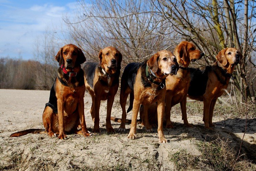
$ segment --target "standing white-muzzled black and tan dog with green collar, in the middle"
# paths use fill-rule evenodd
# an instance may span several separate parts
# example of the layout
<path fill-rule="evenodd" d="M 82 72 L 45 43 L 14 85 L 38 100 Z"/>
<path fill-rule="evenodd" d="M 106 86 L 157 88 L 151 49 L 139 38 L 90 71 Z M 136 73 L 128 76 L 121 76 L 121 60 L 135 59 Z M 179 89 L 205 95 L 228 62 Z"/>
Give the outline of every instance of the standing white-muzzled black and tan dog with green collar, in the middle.
<path fill-rule="evenodd" d="M 179 65 L 177 64 L 176 57 L 167 50 L 157 52 L 147 62 L 130 63 L 125 67 L 121 78 L 120 91 L 120 105 L 123 110 L 122 121 L 117 131 L 125 131 L 125 105 L 127 97 L 130 94 L 130 99 L 132 99 L 130 103 L 133 102 L 133 110 L 128 138 L 136 138 L 137 117 L 140 105 L 157 102 L 158 139 L 159 142 L 167 142 L 162 127 L 166 92 L 165 79 L 169 74 L 176 74 L 178 69 Z M 147 108 L 145 107 L 144 110 L 147 110 Z M 151 125 L 147 123 L 145 123 L 146 130 L 153 131 Z"/>

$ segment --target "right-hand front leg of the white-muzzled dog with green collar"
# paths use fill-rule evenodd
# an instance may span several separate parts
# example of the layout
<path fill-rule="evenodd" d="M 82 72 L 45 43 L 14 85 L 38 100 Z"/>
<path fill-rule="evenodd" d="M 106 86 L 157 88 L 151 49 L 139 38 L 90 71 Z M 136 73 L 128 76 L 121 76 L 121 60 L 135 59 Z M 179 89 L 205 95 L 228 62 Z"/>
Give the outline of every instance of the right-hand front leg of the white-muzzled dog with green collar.
<path fill-rule="evenodd" d="M 163 113 L 165 112 L 165 101 L 164 99 L 157 102 L 157 121 L 158 121 L 158 142 L 167 143 L 165 135 L 163 134 Z"/>

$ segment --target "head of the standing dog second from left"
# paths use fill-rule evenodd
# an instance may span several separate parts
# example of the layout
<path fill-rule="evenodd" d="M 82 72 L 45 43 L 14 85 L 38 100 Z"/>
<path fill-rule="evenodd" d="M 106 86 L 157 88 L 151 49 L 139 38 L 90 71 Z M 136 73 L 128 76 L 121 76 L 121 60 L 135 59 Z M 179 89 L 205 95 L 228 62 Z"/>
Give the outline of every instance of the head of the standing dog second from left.
<path fill-rule="evenodd" d="M 122 54 L 114 47 L 106 47 L 99 52 L 99 65 L 109 74 L 121 69 Z"/>

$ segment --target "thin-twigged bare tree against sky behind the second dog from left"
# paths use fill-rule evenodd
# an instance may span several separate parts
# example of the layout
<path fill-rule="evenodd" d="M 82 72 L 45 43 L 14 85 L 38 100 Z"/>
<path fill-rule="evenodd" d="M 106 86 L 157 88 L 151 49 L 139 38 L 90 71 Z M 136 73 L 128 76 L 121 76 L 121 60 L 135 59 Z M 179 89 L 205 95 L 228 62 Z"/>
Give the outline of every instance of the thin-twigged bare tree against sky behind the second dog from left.
<path fill-rule="evenodd" d="M 96 0 L 90 5 L 83 1 L 79 5 L 81 11 L 76 20 L 65 21 L 70 35 L 91 61 L 98 61 L 98 51 L 106 46 L 118 48 L 126 65 L 174 43 L 174 30 L 155 15 L 156 8 L 150 1 Z M 168 32 L 168 36 L 163 32 Z"/>

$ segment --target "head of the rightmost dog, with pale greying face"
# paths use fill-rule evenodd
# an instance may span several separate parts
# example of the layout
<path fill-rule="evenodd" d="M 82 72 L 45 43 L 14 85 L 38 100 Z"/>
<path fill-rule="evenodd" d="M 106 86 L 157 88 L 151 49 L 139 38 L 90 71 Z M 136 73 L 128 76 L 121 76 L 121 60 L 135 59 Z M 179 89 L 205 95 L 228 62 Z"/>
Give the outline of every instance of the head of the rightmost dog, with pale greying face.
<path fill-rule="evenodd" d="M 232 73 L 234 66 L 240 63 L 242 57 L 242 54 L 236 48 L 226 48 L 219 51 L 216 59 L 224 68 L 229 69 Z"/>

